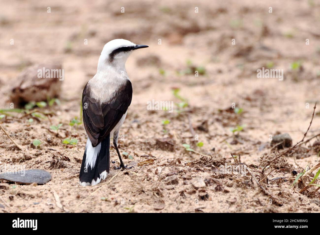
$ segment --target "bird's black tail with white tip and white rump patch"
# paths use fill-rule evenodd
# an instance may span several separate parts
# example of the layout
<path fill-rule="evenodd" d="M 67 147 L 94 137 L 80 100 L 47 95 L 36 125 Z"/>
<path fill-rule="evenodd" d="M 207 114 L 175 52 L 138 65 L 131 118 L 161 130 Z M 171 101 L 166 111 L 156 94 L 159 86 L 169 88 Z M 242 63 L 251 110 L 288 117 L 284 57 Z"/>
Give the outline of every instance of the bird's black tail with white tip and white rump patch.
<path fill-rule="evenodd" d="M 82 159 L 80 185 L 96 185 L 105 179 L 110 169 L 110 134 L 96 147 L 92 147 L 88 138 Z"/>

